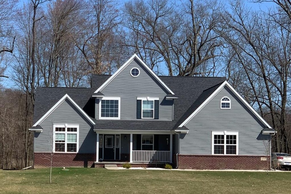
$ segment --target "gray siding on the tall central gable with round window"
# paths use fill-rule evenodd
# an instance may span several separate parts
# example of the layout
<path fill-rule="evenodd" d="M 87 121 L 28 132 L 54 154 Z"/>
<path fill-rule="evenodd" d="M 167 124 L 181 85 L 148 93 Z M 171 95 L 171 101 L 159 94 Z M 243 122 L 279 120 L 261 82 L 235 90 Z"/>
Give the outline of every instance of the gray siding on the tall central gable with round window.
<path fill-rule="evenodd" d="M 137 67 L 138 77 L 132 77 L 130 70 Z M 97 89 L 97 88 L 96 88 Z M 158 83 L 138 61 L 133 60 L 104 89 L 105 97 L 120 97 L 120 119 L 136 119 L 136 97 L 159 98 L 159 120 L 172 120 L 173 100 L 166 100 L 168 92 Z M 97 103 L 97 101 L 96 101 Z M 99 109 L 96 109 L 98 119 Z"/>

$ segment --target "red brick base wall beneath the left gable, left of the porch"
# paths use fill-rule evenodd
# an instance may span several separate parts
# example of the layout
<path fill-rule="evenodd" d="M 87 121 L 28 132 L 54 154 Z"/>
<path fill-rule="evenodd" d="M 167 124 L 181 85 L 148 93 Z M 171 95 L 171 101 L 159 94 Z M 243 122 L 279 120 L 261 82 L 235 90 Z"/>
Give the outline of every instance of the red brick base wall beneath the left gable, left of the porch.
<path fill-rule="evenodd" d="M 34 153 L 34 168 L 49 167 L 51 157 L 50 153 Z M 96 154 L 78 154 L 78 153 L 54 153 L 54 167 L 94 167 Z"/>

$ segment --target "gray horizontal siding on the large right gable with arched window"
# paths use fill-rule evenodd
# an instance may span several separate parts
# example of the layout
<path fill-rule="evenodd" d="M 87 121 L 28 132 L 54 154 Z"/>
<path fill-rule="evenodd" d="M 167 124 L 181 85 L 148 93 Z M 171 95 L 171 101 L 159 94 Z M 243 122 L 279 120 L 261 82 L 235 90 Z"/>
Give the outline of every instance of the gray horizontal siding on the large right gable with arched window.
<path fill-rule="evenodd" d="M 231 109 L 220 109 L 220 100 L 224 96 L 230 98 Z M 212 131 L 238 132 L 239 155 L 266 154 L 266 140 L 258 140 L 265 126 L 228 87 L 214 96 L 186 127 L 189 133 L 184 137 L 182 134 L 181 154 L 211 154 Z"/>

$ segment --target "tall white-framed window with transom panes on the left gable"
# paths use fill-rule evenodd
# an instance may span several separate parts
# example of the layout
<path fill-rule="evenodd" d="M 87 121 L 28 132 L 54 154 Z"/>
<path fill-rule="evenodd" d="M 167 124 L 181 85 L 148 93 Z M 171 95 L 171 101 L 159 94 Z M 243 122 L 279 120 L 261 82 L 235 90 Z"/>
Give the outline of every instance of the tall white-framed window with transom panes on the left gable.
<path fill-rule="evenodd" d="M 79 150 L 79 125 L 53 125 L 54 152 L 75 152 Z"/>

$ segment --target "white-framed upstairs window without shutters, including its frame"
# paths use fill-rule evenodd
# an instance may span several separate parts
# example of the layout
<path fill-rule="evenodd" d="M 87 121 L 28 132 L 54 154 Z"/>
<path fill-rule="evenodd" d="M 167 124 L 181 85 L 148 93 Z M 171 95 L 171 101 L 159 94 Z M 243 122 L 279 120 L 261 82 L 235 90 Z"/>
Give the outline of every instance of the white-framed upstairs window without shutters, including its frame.
<path fill-rule="evenodd" d="M 99 100 L 99 119 L 120 119 L 120 97 Z"/>

